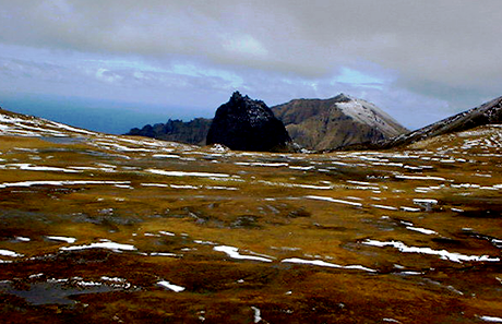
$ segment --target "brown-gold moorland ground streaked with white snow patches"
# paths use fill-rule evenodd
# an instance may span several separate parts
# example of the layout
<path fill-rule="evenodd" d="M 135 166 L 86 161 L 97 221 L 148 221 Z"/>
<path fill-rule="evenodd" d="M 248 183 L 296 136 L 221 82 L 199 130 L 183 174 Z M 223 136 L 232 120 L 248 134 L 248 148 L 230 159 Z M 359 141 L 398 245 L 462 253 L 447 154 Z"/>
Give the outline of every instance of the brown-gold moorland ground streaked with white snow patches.
<path fill-rule="evenodd" d="M 502 128 L 262 154 L 0 115 L 2 323 L 502 322 Z"/>

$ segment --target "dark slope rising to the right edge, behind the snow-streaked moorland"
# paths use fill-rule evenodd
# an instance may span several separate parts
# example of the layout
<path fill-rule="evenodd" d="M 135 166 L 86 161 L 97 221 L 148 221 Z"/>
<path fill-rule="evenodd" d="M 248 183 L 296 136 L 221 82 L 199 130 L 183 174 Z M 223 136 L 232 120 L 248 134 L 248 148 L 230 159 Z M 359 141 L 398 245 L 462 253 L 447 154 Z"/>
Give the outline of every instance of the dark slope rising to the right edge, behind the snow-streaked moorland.
<path fill-rule="evenodd" d="M 376 148 L 392 148 L 442 134 L 462 132 L 480 125 L 498 123 L 502 123 L 502 97 L 434 122 L 422 129 L 383 141 L 379 143 Z"/>

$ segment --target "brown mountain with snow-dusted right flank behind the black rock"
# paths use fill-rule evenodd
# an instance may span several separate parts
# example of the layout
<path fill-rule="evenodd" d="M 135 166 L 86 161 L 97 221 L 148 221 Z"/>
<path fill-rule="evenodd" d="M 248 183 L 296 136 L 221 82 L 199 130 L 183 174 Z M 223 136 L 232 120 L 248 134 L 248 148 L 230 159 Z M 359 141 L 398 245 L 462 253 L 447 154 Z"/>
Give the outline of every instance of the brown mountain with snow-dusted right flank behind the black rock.
<path fill-rule="evenodd" d="M 308 149 L 378 142 L 408 131 L 373 104 L 344 94 L 330 99 L 295 99 L 272 110 L 292 141 Z"/>

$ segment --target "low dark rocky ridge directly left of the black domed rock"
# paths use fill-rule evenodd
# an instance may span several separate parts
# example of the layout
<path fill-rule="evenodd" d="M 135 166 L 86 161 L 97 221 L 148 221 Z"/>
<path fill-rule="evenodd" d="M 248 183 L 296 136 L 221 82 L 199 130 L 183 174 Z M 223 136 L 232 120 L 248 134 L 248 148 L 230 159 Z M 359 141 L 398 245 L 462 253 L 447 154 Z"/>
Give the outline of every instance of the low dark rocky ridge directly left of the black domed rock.
<path fill-rule="evenodd" d="M 195 118 L 189 122 L 168 120 L 166 123 L 147 124 L 142 129 L 134 128 L 125 135 L 139 135 L 164 141 L 205 145 L 212 119 Z"/>

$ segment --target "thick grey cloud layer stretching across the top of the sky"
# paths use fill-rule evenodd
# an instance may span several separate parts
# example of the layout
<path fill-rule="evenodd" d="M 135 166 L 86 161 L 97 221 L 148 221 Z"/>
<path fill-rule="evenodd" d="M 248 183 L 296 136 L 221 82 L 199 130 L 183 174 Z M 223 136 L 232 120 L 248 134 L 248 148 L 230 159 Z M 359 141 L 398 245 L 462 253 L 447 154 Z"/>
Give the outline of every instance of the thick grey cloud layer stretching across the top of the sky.
<path fill-rule="evenodd" d="M 498 0 L 0 1 L 3 41 L 332 73 L 355 58 L 406 75 L 499 80 Z M 433 76 L 433 77 L 430 77 Z M 465 81 L 468 82 L 468 81 Z M 476 83 L 476 82 L 473 82 Z"/>

